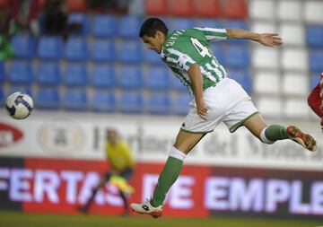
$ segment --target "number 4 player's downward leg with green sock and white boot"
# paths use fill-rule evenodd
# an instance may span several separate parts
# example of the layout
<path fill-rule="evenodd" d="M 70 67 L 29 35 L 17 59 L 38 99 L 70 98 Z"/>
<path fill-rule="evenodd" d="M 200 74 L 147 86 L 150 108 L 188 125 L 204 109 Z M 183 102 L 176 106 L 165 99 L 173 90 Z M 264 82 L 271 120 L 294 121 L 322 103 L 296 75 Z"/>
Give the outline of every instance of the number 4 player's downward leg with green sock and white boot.
<path fill-rule="evenodd" d="M 150 201 L 144 204 L 131 204 L 131 208 L 139 214 L 150 214 L 153 217 L 162 216 L 162 203 L 165 200 L 167 192 L 179 177 L 183 161 L 186 154 L 203 138 L 205 134 L 191 134 L 179 131 L 174 146 L 170 149 L 170 155 L 167 159 L 158 183 L 153 192 Z"/>

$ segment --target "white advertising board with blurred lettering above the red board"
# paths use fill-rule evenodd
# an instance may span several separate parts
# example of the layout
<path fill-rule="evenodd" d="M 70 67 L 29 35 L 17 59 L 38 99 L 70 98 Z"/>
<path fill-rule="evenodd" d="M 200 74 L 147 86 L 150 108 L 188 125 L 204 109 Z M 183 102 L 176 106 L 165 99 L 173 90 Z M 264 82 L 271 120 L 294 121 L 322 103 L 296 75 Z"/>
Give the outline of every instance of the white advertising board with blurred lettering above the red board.
<path fill-rule="evenodd" d="M 135 160 L 163 162 L 179 131 L 182 118 L 116 116 L 92 113 L 34 112 L 14 120 L 0 113 L 0 156 L 64 159 L 104 159 L 105 130 L 118 129 Z M 279 122 L 288 125 L 289 122 Z M 279 141 L 262 144 L 248 130 L 230 134 L 220 125 L 196 145 L 186 162 L 206 165 L 323 170 L 323 143 L 319 125 L 298 122 L 318 141 L 310 153 L 299 144 Z"/>

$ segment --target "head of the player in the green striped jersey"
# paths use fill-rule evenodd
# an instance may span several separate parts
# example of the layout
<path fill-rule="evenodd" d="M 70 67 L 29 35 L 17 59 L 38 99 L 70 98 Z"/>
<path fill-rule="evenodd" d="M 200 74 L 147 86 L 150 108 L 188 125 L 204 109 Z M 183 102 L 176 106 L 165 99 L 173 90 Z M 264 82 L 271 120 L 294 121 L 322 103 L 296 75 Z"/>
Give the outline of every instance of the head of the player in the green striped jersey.
<path fill-rule="evenodd" d="M 148 18 L 142 24 L 139 37 L 144 40 L 146 47 L 156 51 L 158 54 L 162 52 L 162 45 L 166 40 L 168 28 L 159 18 Z"/>

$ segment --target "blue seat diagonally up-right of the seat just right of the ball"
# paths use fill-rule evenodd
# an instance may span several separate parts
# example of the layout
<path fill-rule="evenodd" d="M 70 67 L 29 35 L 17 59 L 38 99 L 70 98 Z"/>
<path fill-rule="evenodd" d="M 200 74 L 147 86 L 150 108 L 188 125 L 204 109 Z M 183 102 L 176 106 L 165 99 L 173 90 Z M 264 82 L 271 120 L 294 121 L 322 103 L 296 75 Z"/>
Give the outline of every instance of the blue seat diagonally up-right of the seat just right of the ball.
<path fill-rule="evenodd" d="M 67 86 L 85 86 L 88 83 L 86 65 L 70 63 L 66 65 L 64 82 Z"/>

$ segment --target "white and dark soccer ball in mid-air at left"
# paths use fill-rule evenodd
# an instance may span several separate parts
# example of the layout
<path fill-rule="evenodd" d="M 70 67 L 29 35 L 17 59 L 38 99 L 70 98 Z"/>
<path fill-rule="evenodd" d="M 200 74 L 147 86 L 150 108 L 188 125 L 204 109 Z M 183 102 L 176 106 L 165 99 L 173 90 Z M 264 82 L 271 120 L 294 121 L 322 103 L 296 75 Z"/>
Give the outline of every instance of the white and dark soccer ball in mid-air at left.
<path fill-rule="evenodd" d="M 8 110 L 9 115 L 12 118 L 27 118 L 31 114 L 33 100 L 28 94 L 23 92 L 14 92 L 6 99 L 5 108 Z"/>

